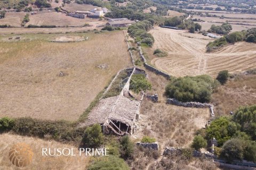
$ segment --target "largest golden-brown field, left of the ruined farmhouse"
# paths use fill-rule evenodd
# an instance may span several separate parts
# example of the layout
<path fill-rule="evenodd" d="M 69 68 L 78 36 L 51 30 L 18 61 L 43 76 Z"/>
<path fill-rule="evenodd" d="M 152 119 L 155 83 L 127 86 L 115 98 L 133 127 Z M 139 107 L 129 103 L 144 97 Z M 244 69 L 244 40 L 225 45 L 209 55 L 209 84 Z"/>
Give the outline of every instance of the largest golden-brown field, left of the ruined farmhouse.
<path fill-rule="evenodd" d="M 55 35 L 24 35 L 1 43 L 0 117 L 74 121 L 111 77 L 131 66 L 123 31 L 70 35 L 90 38 L 50 43 L 46 37 Z"/>

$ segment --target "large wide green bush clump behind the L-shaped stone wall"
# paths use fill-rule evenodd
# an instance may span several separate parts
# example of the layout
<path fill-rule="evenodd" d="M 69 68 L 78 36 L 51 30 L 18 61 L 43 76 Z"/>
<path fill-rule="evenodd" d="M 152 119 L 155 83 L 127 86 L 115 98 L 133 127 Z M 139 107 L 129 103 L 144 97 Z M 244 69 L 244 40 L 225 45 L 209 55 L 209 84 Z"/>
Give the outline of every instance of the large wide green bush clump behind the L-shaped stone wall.
<path fill-rule="evenodd" d="M 209 75 L 173 78 L 165 88 L 165 95 L 179 101 L 210 101 L 217 83 Z"/>

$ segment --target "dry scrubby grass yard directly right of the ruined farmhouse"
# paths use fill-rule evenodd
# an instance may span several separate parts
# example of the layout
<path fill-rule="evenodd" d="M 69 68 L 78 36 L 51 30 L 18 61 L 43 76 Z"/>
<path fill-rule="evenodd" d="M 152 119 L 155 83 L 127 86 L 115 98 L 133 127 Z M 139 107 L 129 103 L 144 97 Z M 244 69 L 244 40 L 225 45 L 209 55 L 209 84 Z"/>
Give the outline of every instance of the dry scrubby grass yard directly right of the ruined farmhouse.
<path fill-rule="evenodd" d="M 135 140 L 143 135 L 154 137 L 164 149 L 166 146 L 189 146 L 194 138 L 194 132 L 205 128 L 210 120 L 208 108 L 186 108 L 166 105 L 164 96 L 168 80 L 147 71 L 152 89 L 147 94 L 158 94 L 158 103 L 152 103 L 146 98 L 142 101 Z"/>

